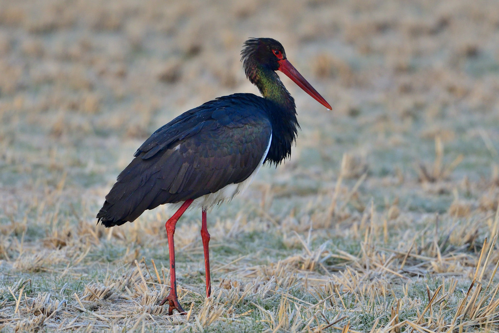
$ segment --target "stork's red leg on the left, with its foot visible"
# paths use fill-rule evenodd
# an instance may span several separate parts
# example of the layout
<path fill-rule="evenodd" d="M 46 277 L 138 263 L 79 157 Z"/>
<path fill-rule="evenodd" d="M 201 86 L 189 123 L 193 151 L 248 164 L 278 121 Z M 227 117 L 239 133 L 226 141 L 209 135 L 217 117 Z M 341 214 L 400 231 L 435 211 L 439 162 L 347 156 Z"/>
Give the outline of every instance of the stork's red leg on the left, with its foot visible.
<path fill-rule="evenodd" d="M 179 210 L 173 214 L 173 216 L 165 224 L 166 233 L 168 235 L 168 251 L 170 253 L 170 294 L 168 294 L 168 296 L 161 301 L 159 305 L 164 305 L 168 301 L 169 316 L 173 315 L 173 309 L 176 309 L 182 315 L 186 314 L 184 309 L 180 306 L 177 297 L 177 280 L 175 279 L 175 245 L 173 244 L 173 234 L 175 234 L 175 224 L 193 201 L 194 200 L 192 199 L 186 200 L 186 202 L 180 206 Z"/>

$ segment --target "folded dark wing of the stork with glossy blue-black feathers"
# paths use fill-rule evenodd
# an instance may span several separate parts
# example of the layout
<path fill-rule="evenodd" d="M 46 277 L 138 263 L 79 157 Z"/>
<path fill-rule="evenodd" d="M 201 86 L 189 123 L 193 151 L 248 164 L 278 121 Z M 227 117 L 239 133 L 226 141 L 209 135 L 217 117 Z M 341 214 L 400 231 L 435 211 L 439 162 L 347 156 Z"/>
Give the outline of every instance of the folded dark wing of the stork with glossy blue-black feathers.
<path fill-rule="evenodd" d="M 147 209 L 246 180 L 265 153 L 271 125 L 262 98 L 236 103 L 228 97 L 187 111 L 151 135 L 118 176 L 99 221 L 106 227 L 132 222 Z"/>

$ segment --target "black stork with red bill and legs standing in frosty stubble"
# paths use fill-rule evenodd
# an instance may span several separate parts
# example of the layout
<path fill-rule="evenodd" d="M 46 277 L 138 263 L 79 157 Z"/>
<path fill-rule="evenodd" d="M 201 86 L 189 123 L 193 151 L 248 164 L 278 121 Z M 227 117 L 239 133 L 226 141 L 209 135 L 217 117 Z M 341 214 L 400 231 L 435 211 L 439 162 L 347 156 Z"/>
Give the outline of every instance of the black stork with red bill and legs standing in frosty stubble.
<path fill-rule="evenodd" d="M 189 207 L 202 211 L 206 296 L 211 295 L 207 212 L 246 189 L 264 164 L 277 167 L 290 157 L 299 124 L 293 97 L 276 71 L 331 110 L 329 103 L 287 60 L 280 42 L 250 38 L 241 61 L 261 96 L 235 93 L 193 108 L 154 132 L 119 174 L 96 218 L 104 227 L 135 221 L 144 211 L 174 204 L 165 223 L 170 259 L 168 315 L 186 314 L 177 295 L 175 225 Z M 180 205 L 180 207 L 179 207 Z"/>

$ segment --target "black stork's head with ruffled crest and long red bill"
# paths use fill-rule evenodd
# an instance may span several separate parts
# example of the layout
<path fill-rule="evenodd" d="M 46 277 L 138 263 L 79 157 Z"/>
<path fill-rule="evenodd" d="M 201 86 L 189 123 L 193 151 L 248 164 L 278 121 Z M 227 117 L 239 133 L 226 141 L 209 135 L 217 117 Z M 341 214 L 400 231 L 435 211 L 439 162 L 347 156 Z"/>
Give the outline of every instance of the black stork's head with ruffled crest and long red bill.
<path fill-rule="evenodd" d="M 241 52 L 241 61 L 245 68 L 246 76 L 252 83 L 256 84 L 259 70 L 279 70 L 286 74 L 301 89 L 312 96 L 319 103 L 331 110 L 331 105 L 315 90 L 310 83 L 294 68 L 286 59 L 284 47 L 272 38 L 250 38 L 245 41 L 245 47 Z"/>

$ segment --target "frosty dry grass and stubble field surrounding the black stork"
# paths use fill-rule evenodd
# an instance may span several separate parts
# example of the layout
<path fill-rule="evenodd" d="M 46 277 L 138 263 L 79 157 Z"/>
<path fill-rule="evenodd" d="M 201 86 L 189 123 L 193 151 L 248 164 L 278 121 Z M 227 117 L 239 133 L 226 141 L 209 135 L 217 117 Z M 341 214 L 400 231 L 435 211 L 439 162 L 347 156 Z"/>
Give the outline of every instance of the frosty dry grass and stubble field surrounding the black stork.
<path fill-rule="evenodd" d="M 1 332 L 497 332 L 499 10 L 488 1 L 0 1 Z M 287 79 L 291 160 L 175 234 L 165 207 L 94 218 L 141 142 L 256 92 L 272 36 L 334 108 Z"/>

